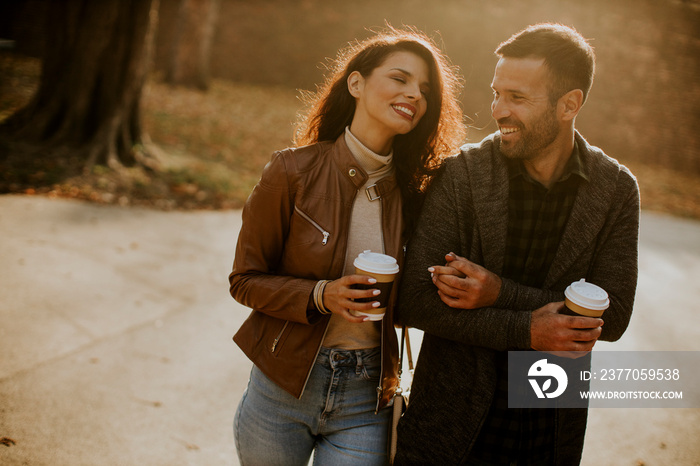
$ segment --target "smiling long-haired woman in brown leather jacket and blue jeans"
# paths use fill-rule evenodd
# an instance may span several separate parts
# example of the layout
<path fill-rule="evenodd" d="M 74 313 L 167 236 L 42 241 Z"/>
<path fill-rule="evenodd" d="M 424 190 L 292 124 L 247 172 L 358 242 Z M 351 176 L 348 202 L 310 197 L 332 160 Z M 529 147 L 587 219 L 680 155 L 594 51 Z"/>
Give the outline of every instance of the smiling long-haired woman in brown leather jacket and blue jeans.
<path fill-rule="evenodd" d="M 243 466 L 385 464 L 398 347 L 395 291 L 379 305 L 359 252 L 402 261 L 442 158 L 464 136 L 458 80 L 438 48 L 389 29 L 342 51 L 243 209 L 232 296 L 253 309 L 234 337 L 255 363 L 234 422 Z M 394 286 L 394 290 L 396 290 Z M 361 298 L 369 302 L 360 302 Z"/>

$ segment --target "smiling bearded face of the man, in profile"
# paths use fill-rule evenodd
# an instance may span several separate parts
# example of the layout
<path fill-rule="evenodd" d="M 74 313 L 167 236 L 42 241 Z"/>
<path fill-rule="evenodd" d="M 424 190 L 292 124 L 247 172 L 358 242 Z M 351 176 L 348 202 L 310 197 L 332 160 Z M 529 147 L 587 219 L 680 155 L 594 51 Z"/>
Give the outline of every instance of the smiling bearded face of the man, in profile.
<path fill-rule="evenodd" d="M 491 88 L 491 115 L 501 132 L 506 157 L 532 160 L 560 133 L 556 106 L 549 100 L 551 77 L 541 58 L 501 58 Z"/>

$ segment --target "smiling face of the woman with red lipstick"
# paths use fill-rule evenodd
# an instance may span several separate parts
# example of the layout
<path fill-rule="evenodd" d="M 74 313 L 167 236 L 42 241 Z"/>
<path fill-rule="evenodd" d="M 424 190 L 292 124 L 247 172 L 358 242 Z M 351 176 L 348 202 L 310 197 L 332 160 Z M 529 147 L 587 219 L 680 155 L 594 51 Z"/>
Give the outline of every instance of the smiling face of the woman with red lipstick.
<path fill-rule="evenodd" d="M 369 76 L 348 77 L 356 106 L 350 131 L 369 149 L 386 154 L 394 136 L 418 125 L 428 108 L 429 69 L 411 52 L 389 55 Z"/>

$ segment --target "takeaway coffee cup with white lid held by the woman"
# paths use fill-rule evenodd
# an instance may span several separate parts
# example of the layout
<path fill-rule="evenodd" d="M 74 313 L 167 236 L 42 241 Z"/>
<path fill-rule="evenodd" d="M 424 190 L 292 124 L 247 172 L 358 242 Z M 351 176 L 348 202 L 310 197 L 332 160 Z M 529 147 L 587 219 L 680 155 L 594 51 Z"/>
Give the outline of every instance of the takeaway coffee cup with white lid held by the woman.
<path fill-rule="evenodd" d="M 350 313 L 355 316 L 369 317 L 369 320 L 382 320 L 389 302 L 389 296 L 391 295 L 391 288 L 394 286 L 394 278 L 399 273 L 399 265 L 396 263 L 396 259 L 386 254 L 367 250 L 358 254 L 353 265 L 355 266 L 355 273 L 369 275 L 377 280 L 377 283 L 374 285 L 354 285 L 354 288 L 361 290 L 377 289 L 380 291 L 380 294 L 371 298 L 355 300 L 361 303 L 379 301 L 379 307 L 367 311 L 351 310 Z"/>

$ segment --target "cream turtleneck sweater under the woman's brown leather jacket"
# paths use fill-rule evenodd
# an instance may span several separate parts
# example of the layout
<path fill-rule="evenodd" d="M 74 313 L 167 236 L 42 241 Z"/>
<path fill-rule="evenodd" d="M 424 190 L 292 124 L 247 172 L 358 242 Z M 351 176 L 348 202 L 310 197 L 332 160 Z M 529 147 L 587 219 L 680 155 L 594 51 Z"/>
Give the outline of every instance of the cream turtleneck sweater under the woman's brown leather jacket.
<path fill-rule="evenodd" d="M 367 249 L 384 252 L 381 201 L 370 201 L 365 190 L 393 172 L 393 152 L 385 156 L 375 154 L 350 132 L 349 127 L 345 128 L 345 142 L 357 162 L 369 175 L 367 182 L 355 196 L 350 218 L 344 275 L 352 275 L 355 273 L 353 261 L 359 253 Z M 381 321 L 355 324 L 333 314 L 323 346 L 340 349 L 374 348 L 379 346 L 380 338 Z"/>

